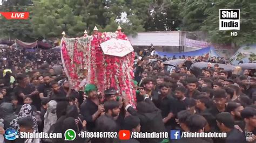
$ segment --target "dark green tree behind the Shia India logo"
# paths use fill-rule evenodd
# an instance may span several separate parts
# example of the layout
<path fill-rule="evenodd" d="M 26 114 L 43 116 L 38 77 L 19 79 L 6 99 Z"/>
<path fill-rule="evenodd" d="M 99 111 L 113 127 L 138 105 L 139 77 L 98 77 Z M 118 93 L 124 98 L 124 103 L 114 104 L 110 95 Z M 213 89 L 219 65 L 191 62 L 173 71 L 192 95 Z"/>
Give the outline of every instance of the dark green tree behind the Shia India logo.
<path fill-rule="evenodd" d="M 205 10 L 207 18 L 201 30 L 215 43 L 234 43 L 235 45 L 255 43 L 256 39 L 256 3 L 251 1 L 218 1 Z M 240 9 L 240 31 L 237 37 L 231 37 L 231 31 L 219 31 L 219 9 Z"/>

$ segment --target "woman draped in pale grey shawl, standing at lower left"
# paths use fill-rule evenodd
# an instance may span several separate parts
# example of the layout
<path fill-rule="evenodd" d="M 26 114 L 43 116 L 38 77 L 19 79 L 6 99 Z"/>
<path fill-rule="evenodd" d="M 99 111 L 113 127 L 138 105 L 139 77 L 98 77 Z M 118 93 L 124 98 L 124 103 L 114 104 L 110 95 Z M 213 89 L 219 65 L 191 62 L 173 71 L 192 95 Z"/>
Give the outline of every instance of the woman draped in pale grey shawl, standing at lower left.
<path fill-rule="evenodd" d="M 50 101 L 48 102 L 48 108 L 44 115 L 44 132 L 45 133 L 51 133 L 51 127 L 53 124 L 57 121 L 57 115 L 56 115 L 56 108 L 57 108 L 57 102 L 56 101 Z M 51 141 L 45 139 L 45 141 Z"/>

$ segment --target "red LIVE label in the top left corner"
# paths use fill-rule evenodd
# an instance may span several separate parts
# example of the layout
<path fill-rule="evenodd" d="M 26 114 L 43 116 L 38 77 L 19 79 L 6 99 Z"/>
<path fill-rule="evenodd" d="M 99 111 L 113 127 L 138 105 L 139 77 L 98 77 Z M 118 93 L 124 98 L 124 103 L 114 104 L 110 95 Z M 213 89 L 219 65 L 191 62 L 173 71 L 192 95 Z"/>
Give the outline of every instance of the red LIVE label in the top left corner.
<path fill-rule="evenodd" d="M 0 12 L 6 19 L 28 19 L 29 12 Z"/>

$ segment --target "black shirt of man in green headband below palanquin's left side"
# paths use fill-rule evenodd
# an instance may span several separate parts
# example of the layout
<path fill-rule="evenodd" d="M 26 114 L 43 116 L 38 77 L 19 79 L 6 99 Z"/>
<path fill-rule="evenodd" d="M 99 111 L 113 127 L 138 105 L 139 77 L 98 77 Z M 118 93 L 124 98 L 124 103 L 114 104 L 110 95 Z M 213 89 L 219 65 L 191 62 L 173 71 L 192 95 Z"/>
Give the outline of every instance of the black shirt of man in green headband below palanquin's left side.
<path fill-rule="evenodd" d="M 89 132 L 95 129 L 95 121 L 92 120 L 92 115 L 98 110 L 98 105 L 91 101 L 91 99 L 86 99 L 84 106 L 81 106 L 81 114 L 86 120 L 86 128 Z"/>

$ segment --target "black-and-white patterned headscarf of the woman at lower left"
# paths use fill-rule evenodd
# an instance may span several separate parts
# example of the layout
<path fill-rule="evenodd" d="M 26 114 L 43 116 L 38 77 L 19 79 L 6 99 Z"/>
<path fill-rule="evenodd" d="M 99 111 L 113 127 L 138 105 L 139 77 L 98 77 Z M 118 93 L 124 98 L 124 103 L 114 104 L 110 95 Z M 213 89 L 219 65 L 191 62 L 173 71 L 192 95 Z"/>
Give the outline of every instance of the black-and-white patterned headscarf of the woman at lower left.
<path fill-rule="evenodd" d="M 37 125 L 37 119 L 35 116 L 33 116 L 32 107 L 30 104 L 24 104 L 21 108 L 21 110 L 18 113 L 18 117 L 11 121 L 10 125 L 15 128 L 15 130 L 19 131 L 19 125 L 17 121 L 20 118 L 31 116 L 33 119 L 33 130 L 34 132 L 38 132 L 38 125 Z"/>

